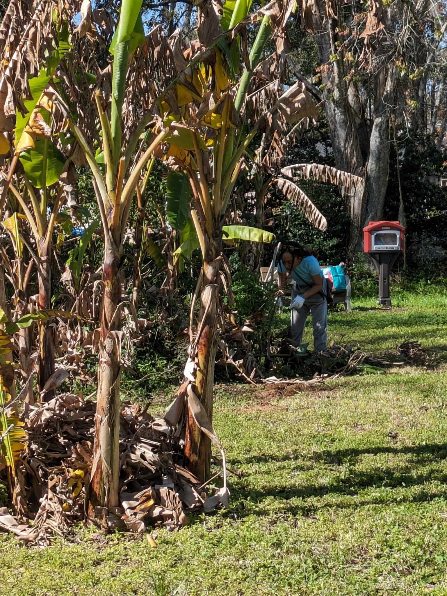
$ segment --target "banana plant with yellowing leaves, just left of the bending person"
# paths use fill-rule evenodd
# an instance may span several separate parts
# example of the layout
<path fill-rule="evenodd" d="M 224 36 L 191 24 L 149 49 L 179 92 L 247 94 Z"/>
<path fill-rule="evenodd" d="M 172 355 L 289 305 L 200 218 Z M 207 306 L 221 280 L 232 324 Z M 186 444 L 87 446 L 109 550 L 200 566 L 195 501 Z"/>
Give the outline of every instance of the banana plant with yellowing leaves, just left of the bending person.
<path fill-rule="evenodd" d="M 176 63 L 183 68 L 157 102 L 160 119 L 153 129 L 154 135 L 168 125 L 170 131 L 156 155 L 168 168 L 184 173 L 191 188 L 190 218 L 194 234 L 176 250 L 176 257 L 188 256 L 198 246 L 203 259 L 197 287 L 200 309 L 195 336 L 191 333 L 185 375 L 190 383 L 188 390 L 197 396 L 210 421 L 219 285 L 221 274 L 225 275 L 221 272 L 222 246 L 225 241 L 264 240 L 264 232 L 260 230 L 226 228 L 226 211 L 232 190 L 246 162 L 246 151 L 256 136 L 268 142 L 274 132 L 284 132 L 300 117 L 316 116 L 316 109 L 305 89 L 301 83 L 296 83 L 281 88 L 279 97 L 268 98 L 269 105 L 256 123 L 250 122 L 249 118 L 247 91 L 253 73 L 263 57 L 272 30 L 275 29 L 277 34 L 283 31 L 287 21 L 285 14 L 290 15 L 293 4 L 271 2 L 249 15 L 250 2 L 225 2 L 223 22 L 216 24 L 209 17 L 208 27 L 205 10 L 199 5 L 199 41 L 204 42 L 205 37 L 213 41 L 188 63 L 179 35 L 175 41 L 171 40 Z M 240 33 L 247 24 L 256 22 L 260 26 L 248 53 Z M 224 28 L 228 30 L 224 31 Z M 241 65 L 243 56 L 246 57 L 244 66 Z M 193 309 L 194 301 L 191 320 Z M 209 438 L 201 432 L 193 412 L 189 411 L 185 460 L 190 470 L 203 480 L 209 476 L 210 446 Z"/>

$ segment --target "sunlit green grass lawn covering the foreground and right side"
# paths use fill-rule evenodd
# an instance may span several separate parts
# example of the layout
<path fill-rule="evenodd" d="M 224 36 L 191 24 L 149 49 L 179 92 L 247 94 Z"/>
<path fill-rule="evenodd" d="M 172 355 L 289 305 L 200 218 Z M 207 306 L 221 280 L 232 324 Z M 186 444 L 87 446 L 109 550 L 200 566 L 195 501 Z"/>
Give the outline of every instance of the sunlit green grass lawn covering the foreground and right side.
<path fill-rule="evenodd" d="M 378 354 L 415 339 L 446 356 L 442 288 L 393 304 L 355 300 L 331 313 L 330 338 Z M 157 531 L 157 549 L 94 530 L 44 550 L 0 535 L 0 593 L 445 595 L 446 373 L 393 368 L 303 392 L 219 386 L 215 428 L 240 474 L 230 511 Z"/>

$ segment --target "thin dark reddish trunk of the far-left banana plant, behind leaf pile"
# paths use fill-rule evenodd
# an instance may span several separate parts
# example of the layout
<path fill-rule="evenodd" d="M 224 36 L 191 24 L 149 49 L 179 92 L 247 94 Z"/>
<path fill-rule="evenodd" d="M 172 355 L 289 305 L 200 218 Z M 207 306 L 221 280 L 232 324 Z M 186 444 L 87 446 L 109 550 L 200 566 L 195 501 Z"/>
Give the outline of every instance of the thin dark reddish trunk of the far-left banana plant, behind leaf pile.
<path fill-rule="evenodd" d="M 39 247 L 40 268 L 39 280 L 39 311 L 50 308 L 51 303 L 51 243 L 42 243 Z M 39 362 L 38 362 L 38 391 L 42 393 L 46 381 L 54 373 L 55 331 L 50 321 L 39 323 Z M 47 391 L 44 400 L 49 402 L 54 398 L 54 390 Z"/>

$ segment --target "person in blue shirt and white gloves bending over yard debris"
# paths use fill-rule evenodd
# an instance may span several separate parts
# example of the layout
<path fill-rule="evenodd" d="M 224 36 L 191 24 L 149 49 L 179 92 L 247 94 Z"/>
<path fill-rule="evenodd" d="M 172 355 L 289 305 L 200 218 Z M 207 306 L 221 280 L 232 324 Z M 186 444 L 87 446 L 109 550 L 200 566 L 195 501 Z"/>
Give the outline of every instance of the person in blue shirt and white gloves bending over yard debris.
<path fill-rule="evenodd" d="M 312 249 L 302 246 L 283 250 L 278 263 L 281 288 L 287 278 L 293 279 L 290 327 L 292 343 L 302 344 L 303 332 L 309 312 L 312 315 L 313 344 L 315 352 L 325 352 L 327 347 L 326 280 Z"/>

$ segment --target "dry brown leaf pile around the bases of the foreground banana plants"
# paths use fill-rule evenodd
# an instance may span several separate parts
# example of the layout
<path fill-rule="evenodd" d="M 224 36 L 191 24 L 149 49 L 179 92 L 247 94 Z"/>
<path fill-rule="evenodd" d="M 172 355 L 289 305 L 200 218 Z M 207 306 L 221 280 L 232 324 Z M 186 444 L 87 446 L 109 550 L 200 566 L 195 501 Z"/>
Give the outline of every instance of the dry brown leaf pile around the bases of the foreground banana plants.
<path fill-rule="evenodd" d="M 224 488 L 210 496 L 182 465 L 182 429 L 177 426 L 182 397 L 159 419 L 140 405 L 123 406 L 120 504 L 113 511 L 95 511 L 102 514 L 104 528 L 145 532 L 150 525 L 178 530 L 188 523 L 187 512 L 210 512 L 228 504 L 226 474 Z M 44 546 L 54 535 L 69 537 L 75 523 L 88 520 L 95 408 L 95 403 L 66 393 L 24 414 L 27 448 L 13 480 L 15 516 L 0 507 L 0 529 Z M 200 423 L 200 407 L 196 414 Z"/>

